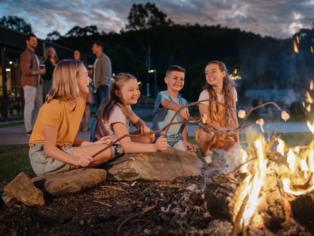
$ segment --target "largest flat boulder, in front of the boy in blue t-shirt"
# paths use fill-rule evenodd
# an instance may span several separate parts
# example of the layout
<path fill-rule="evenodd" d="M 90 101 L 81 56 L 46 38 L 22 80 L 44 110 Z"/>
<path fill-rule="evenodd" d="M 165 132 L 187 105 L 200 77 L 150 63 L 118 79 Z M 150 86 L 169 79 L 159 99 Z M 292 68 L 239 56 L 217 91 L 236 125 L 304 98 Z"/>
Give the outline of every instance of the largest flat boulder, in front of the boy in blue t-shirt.
<path fill-rule="evenodd" d="M 107 179 L 110 180 L 166 181 L 202 175 L 204 164 L 191 152 L 168 147 L 163 152 L 119 155 L 102 167 L 107 171 Z"/>

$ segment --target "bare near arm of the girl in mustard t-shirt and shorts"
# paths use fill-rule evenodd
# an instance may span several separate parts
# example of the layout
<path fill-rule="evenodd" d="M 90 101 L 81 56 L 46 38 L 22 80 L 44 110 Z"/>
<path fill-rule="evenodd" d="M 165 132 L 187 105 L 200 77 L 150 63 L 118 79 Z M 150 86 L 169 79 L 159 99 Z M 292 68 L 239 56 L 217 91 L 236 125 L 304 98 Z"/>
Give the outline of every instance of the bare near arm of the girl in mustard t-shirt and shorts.
<path fill-rule="evenodd" d="M 81 157 L 70 155 L 56 147 L 58 127 L 44 124 L 44 151 L 51 158 L 74 166 L 87 166 L 93 161 L 89 155 Z"/>

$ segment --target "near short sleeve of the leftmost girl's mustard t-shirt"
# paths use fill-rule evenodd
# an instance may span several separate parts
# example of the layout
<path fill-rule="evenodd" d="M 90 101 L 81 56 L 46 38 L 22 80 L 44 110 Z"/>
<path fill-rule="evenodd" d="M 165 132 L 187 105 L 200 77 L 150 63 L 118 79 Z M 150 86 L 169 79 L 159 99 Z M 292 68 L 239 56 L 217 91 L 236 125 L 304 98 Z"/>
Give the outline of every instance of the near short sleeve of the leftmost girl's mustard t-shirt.
<path fill-rule="evenodd" d="M 42 111 L 41 122 L 45 125 L 59 127 L 62 122 L 62 107 L 55 101 L 48 103 Z"/>

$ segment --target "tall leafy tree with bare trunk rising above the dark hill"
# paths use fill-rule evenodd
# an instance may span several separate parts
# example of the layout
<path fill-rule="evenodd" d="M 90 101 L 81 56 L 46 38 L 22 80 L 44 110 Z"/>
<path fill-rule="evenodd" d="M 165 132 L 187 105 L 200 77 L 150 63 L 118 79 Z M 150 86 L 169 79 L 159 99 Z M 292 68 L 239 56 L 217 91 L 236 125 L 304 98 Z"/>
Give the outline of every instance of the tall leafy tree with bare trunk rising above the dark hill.
<path fill-rule="evenodd" d="M 150 70 L 151 67 L 151 51 L 156 39 L 157 27 L 173 24 L 173 21 L 171 19 L 166 20 L 166 17 L 167 15 L 160 11 L 154 3 L 146 3 L 145 6 L 140 3 L 132 5 L 127 18 L 129 24 L 126 25 L 126 28 L 138 33 L 139 41 L 145 53 L 147 70 Z"/>

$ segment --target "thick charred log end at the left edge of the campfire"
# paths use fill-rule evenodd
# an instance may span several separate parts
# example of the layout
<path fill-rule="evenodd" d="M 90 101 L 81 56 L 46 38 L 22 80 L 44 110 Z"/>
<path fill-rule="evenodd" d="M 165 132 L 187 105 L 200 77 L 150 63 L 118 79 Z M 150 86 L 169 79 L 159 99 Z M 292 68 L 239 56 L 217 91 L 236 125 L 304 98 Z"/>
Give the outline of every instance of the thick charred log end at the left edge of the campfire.
<path fill-rule="evenodd" d="M 241 181 L 231 175 L 212 175 L 208 179 L 204 199 L 209 214 L 234 223 L 244 200 L 244 187 Z"/>

